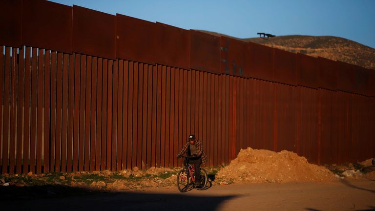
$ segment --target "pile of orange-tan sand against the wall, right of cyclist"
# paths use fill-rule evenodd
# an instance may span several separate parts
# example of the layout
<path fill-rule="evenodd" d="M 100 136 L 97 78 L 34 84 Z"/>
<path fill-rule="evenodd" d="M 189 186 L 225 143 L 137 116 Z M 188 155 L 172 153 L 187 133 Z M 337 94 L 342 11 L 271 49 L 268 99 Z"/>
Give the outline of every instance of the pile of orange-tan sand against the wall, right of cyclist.
<path fill-rule="evenodd" d="M 241 149 L 229 166 L 221 169 L 218 181 L 234 183 L 287 183 L 287 182 L 330 182 L 337 180 L 324 167 L 309 164 L 305 157 L 282 150 L 273 152 L 265 149 Z"/>

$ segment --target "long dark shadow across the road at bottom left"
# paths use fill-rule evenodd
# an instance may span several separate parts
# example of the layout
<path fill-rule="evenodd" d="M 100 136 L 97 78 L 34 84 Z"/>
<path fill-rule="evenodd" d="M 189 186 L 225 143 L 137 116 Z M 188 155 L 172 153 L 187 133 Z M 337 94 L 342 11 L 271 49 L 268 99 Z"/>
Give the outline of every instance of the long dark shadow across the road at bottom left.
<path fill-rule="evenodd" d="M 0 204 L 2 204 L 1 208 L 5 208 L 4 210 L 214 211 L 224 201 L 236 197 L 234 195 L 205 196 L 200 193 L 202 192 L 191 191 L 190 194 L 146 191 L 104 192 L 52 185 L 8 186 L 0 187 Z"/>

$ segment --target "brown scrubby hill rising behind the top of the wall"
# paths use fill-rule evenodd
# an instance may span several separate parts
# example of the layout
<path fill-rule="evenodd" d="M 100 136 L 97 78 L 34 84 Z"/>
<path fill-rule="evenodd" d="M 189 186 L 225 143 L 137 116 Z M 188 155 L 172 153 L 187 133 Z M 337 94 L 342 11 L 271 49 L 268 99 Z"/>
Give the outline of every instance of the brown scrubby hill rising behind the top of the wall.
<path fill-rule="evenodd" d="M 222 35 L 216 32 L 209 32 L 204 30 L 200 31 L 215 36 Z M 334 61 L 337 60 L 345 63 L 351 63 L 366 67 L 368 69 L 375 69 L 374 48 L 340 37 L 289 35 L 276 36 L 269 39 L 234 39 L 242 40 L 245 42 L 255 42 L 293 53 L 303 53 L 313 57 L 323 57 Z"/>

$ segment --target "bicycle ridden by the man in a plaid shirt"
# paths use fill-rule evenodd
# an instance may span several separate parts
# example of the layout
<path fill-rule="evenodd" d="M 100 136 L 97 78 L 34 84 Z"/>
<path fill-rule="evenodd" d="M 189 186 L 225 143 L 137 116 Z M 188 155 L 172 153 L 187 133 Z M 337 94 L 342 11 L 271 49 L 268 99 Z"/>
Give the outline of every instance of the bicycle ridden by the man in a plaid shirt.
<path fill-rule="evenodd" d="M 181 156 L 184 157 L 184 167 L 177 174 L 177 189 L 180 192 L 186 192 L 190 187 L 195 188 L 195 176 L 194 176 L 194 165 L 189 164 L 189 160 L 192 159 L 191 156 Z M 201 188 L 197 190 L 205 190 L 207 186 L 207 171 L 200 168 L 201 174 Z"/>

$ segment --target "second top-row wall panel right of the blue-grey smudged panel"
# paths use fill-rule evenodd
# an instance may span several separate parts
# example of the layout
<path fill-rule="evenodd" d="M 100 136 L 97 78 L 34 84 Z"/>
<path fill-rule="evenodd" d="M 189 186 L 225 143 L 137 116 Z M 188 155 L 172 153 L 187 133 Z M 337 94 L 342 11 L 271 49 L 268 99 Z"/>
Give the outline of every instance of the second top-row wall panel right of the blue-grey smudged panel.
<path fill-rule="evenodd" d="M 274 49 L 274 81 L 296 85 L 297 54 Z"/>

